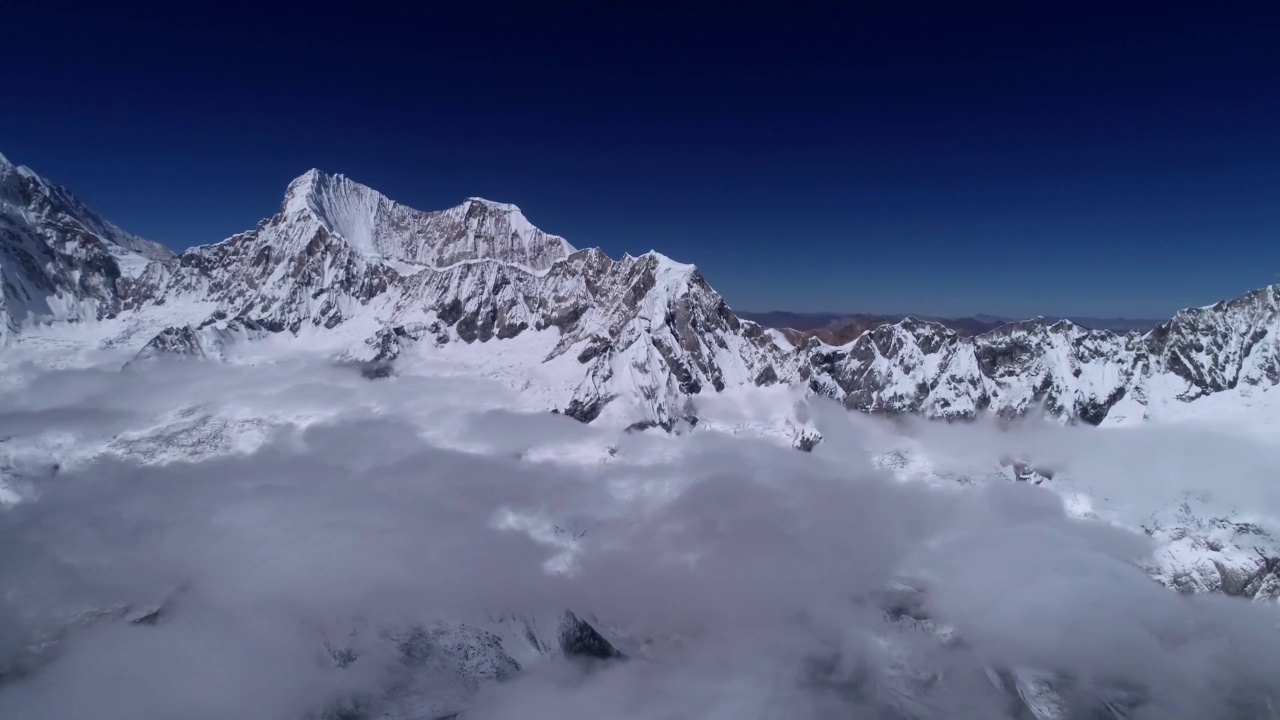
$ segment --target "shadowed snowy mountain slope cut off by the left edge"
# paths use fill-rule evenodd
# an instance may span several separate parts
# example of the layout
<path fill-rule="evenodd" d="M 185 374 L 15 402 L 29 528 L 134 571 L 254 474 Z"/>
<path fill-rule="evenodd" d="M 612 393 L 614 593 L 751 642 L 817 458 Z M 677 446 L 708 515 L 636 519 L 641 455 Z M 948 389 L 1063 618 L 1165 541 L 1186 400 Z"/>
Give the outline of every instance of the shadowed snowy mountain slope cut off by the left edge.
<path fill-rule="evenodd" d="M 143 269 L 172 258 L 0 155 L 0 340 L 23 327 L 115 316 Z"/>

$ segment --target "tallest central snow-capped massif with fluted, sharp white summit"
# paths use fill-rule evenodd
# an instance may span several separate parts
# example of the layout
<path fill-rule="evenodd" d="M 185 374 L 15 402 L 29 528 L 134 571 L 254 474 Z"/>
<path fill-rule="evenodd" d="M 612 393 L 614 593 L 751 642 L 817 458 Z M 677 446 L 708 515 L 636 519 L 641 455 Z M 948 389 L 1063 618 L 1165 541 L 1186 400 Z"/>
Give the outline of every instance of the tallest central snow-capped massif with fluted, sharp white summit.
<path fill-rule="evenodd" d="M 620 420 L 671 427 L 704 388 L 773 383 L 795 366 L 790 348 L 740 322 L 691 265 L 575 250 L 515 205 L 413 210 L 319 170 L 291 183 L 280 213 L 253 231 L 155 263 L 138 287 L 128 302 L 137 313 L 198 309 L 147 355 L 219 355 L 207 343 L 221 347 L 246 327 L 357 328 L 364 342 L 343 355 L 367 360 L 424 342 L 549 333 L 545 352 L 526 361 L 563 366 L 568 384 L 550 409 L 584 421 L 621 398 Z"/>

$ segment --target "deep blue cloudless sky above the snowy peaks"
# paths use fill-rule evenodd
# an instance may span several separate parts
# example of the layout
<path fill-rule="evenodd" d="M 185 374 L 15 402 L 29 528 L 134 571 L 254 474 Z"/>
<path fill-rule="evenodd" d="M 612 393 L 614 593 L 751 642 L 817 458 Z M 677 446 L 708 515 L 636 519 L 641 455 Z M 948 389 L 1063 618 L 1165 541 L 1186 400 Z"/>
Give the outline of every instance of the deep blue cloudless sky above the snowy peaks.
<path fill-rule="evenodd" d="M 740 309 L 1161 316 L 1280 282 L 1275 1 L 38 5 L 3 13 L 0 152 L 175 249 L 319 167 L 659 250 Z"/>

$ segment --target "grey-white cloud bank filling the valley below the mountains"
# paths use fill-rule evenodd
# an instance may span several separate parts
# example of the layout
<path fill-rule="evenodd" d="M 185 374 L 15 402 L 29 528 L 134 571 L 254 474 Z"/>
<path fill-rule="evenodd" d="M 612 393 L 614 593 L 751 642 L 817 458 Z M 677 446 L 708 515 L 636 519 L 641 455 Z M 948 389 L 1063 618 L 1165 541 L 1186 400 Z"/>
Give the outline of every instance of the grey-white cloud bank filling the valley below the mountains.
<path fill-rule="evenodd" d="M 1280 515 L 1248 441 L 817 404 L 803 454 L 302 361 L 23 373 L 6 719 L 1280 717 L 1276 606 L 1162 587 L 1151 538 L 1048 487 L 874 461 L 1012 452 L 1117 515 L 1183 491 Z M 626 659 L 566 656 L 566 610 Z"/>

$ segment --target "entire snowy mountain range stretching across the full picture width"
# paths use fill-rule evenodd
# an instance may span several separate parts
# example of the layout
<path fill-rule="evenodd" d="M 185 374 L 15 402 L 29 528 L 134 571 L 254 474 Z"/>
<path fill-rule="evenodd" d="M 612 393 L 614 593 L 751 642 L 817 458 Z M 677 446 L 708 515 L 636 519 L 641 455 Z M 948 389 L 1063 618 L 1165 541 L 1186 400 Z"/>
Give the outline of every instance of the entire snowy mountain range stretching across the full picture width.
<path fill-rule="evenodd" d="M 266 337 L 390 364 L 463 343 L 548 410 L 637 427 L 696 421 L 707 393 L 778 383 L 868 413 L 1097 424 L 1280 382 L 1280 286 L 1162 323 L 739 314 L 658 252 L 616 260 L 515 205 L 421 211 L 319 170 L 256 228 L 175 255 L 0 158 L 0 273 L 6 345 L 93 325 L 83 342 L 136 347 L 140 364 Z M 787 421 L 797 446 L 817 442 Z"/>

